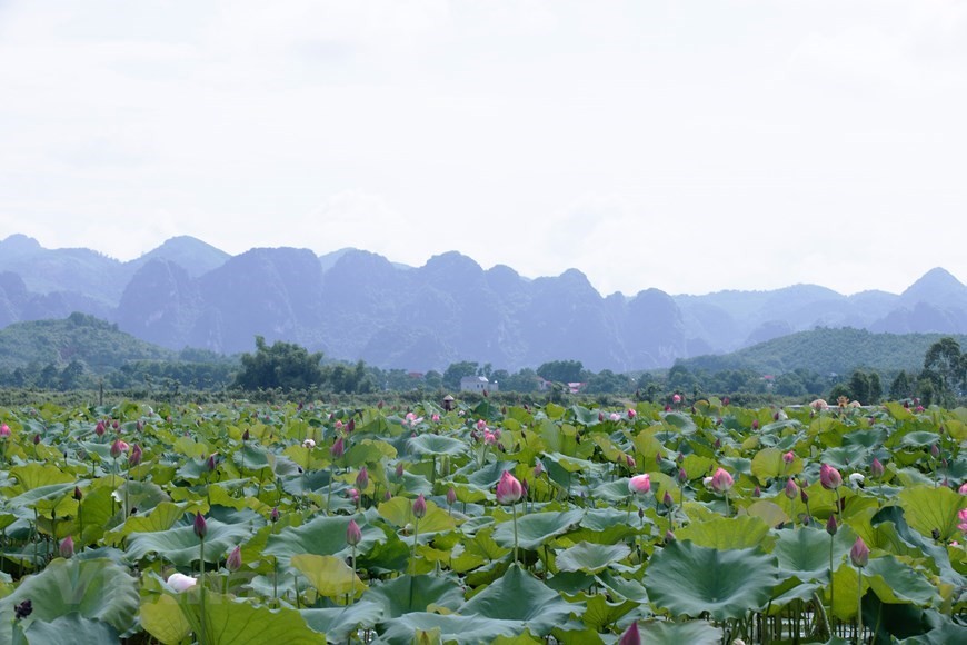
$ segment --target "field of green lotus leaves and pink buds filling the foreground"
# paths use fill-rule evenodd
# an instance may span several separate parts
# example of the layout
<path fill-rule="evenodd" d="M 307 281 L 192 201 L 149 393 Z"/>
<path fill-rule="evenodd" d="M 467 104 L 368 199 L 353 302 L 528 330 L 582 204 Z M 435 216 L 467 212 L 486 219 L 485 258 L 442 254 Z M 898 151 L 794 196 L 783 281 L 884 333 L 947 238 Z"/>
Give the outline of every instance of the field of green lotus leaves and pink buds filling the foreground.
<path fill-rule="evenodd" d="M 964 409 L 0 421 L 0 644 L 967 643 Z"/>

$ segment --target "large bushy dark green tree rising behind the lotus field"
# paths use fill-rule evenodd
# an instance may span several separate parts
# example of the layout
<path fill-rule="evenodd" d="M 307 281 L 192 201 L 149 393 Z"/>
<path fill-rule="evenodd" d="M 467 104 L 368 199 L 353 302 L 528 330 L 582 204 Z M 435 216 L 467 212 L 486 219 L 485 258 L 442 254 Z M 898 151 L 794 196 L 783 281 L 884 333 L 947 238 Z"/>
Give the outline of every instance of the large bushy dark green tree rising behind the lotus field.
<path fill-rule="evenodd" d="M 235 386 L 242 389 L 318 387 L 325 379 L 319 366 L 321 360 L 321 351 L 309 354 L 305 347 L 282 340 L 268 346 L 263 337 L 256 336 L 256 353 L 242 355 Z"/>

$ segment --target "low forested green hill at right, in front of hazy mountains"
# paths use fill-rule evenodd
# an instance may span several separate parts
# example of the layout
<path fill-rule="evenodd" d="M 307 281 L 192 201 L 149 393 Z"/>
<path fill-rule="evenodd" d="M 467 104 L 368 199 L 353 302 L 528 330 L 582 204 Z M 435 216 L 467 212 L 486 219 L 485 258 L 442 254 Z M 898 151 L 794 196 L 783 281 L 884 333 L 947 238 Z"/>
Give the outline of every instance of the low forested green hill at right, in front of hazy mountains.
<path fill-rule="evenodd" d="M 951 337 L 967 347 L 967 336 L 950 334 L 874 334 L 865 329 L 819 328 L 759 343 L 721 356 L 697 356 L 678 361 L 689 370 L 749 369 L 785 374 L 808 369 L 821 375 L 867 368 L 885 374 L 918 370 L 924 355 L 940 338 Z"/>

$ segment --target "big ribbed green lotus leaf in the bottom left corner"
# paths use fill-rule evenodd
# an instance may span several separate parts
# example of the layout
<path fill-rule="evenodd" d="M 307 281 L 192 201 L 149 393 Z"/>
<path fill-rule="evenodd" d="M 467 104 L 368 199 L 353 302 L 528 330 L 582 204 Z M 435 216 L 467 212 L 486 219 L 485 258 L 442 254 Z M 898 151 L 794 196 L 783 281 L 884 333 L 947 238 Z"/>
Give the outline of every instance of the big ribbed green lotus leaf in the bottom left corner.
<path fill-rule="evenodd" d="M 13 622 L 13 606 L 30 599 L 30 621 L 51 622 L 68 614 L 108 623 L 118 633 L 134 624 L 138 584 L 128 572 L 108 559 L 54 559 L 39 574 L 23 578 L 0 601 L 0 621 Z"/>

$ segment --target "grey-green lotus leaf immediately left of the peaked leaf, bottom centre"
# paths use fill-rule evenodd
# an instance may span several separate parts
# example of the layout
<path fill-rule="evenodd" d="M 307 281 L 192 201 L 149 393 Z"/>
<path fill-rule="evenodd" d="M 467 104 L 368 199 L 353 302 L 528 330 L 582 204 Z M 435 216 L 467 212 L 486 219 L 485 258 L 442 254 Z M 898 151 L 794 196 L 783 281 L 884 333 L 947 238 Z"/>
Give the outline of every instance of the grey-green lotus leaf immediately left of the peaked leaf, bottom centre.
<path fill-rule="evenodd" d="M 463 604 L 463 592 L 456 576 L 397 576 L 383 584 L 373 584 L 361 602 L 378 606 L 385 618 L 396 618 L 411 612 L 440 607 L 453 612 Z"/>

